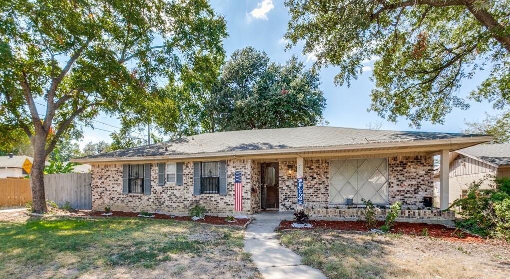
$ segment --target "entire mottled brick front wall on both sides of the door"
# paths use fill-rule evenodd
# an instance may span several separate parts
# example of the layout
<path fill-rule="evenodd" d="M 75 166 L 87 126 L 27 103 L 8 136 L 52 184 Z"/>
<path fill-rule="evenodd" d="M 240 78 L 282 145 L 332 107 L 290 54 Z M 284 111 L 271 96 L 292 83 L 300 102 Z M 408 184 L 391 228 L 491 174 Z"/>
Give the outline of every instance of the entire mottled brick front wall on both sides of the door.
<path fill-rule="evenodd" d="M 328 206 L 329 160 L 304 160 L 304 205 L 309 208 Z M 291 171 L 289 173 L 289 170 Z M 389 200 L 402 202 L 402 209 L 423 206 L 423 197 L 433 196 L 432 156 L 391 156 L 388 158 Z M 184 163 L 184 185 L 167 183 L 158 186 L 157 164 L 151 164 L 151 194 L 122 194 L 122 164 L 92 165 L 92 208 L 102 210 L 158 211 L 187 213 L 194 203 L 209 213 L 232 214 L 234 210 L 234 172 L 242 172 L 243 213 L 260 209 L 260 163 L 250 159 L 227 161 L 227 196 L 201 194 L 193 196 L 193 163 Z M 279 209 L 296 207 L 296 160 L 278 162 Z M 257 189 L 251 192 L 251 188 Z"/>

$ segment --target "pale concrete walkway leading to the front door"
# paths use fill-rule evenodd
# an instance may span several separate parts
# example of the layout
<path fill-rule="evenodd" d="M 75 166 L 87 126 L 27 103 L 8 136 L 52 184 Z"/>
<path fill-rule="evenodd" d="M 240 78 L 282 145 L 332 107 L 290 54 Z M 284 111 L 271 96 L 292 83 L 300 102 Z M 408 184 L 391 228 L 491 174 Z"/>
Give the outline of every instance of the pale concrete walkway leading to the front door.
<path fill-rule="evenodd" d="M 326 278 L 319 270 L 303 265 L 301 257 L 284 248 L 273 232 L 280 220 L 254 220 L 244 234 L 244 250 L 265 279 L 322 279 Z"/>

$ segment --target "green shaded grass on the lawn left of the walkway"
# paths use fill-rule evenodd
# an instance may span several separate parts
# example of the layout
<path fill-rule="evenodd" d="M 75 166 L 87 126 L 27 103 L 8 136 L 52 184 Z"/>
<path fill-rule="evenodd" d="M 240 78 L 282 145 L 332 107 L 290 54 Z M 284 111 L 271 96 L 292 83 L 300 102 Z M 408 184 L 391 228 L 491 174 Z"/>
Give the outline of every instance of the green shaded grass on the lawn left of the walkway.
<path fill-rule="evenodd" d="M 166 235 L 163 231 L 168 226 L 184 229 L 182 233 Z M 71 265 L 82 270 L 96 263 L 154 267 L 171 254 L 198 254 L 200 243 L 186 238 L 193 228 L 195 224 L 173 220 L 133 218 L 30 218 L 23 223 L 2 222 L 0 269 L 6 268 L 7 263 L 45 265 L 55 261 L 59 253 L 74 255 L 78 260 Z"/>

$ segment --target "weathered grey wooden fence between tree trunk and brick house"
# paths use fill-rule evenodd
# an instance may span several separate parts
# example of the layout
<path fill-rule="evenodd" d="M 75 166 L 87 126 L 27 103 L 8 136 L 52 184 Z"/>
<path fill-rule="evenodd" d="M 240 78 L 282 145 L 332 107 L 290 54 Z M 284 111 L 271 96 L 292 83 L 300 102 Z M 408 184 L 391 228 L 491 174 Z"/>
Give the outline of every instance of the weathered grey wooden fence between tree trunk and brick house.
<path fill-rule="evenodd" d="M 92 209 L 91 181 L 90 173 L 45 175 L 46 200 L 59 206 L 69 202 L 74 209 Z"/>

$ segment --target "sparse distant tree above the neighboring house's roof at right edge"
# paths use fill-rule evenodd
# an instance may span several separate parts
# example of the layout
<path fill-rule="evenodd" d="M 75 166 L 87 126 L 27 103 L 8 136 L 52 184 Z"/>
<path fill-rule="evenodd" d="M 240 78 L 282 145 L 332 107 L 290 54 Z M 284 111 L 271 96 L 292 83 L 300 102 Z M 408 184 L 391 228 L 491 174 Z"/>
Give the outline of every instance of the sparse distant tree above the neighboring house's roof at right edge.
<path fill-rule="evenodd" d="M 510 111 L 501 115 L 489 115 L 481 122 L 465 122 L 464 132 L 494 135 L 494 144 L 510 143 Z"/>

